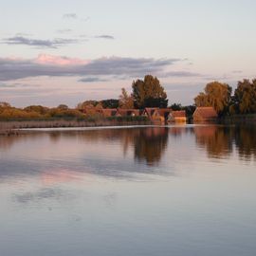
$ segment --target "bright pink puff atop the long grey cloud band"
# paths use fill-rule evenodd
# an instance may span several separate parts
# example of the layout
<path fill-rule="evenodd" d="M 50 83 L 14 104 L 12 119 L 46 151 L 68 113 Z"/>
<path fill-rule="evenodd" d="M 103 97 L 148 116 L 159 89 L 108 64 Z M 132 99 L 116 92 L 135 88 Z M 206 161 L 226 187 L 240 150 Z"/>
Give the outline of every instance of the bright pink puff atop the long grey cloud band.
<path fill-rule="evenodd" d="M 56 64 L 56 65 L 77 65 L 77 64 L 88 64 L 89 61 L 78 59 L 78 58 L 68 58 L 64 56 L 53 56 L 48 54 L 40 54 L 35 59 L 37 64 Z"/>

